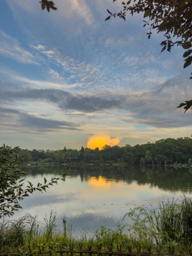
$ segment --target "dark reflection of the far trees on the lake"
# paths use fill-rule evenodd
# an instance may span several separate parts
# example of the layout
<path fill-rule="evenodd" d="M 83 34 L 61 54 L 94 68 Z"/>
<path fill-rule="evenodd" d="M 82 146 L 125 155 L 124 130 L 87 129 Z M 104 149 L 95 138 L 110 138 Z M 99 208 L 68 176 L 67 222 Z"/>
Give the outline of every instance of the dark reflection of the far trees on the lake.
<path fill-rule="evenodd" d="M 157 186 L 163 190 L 192 191 L 192 171 L 184 168 L 176 170 L 171 167 L 151 168 L 150 166 L 126 166 L 124 168 L 119 166 L 88 166 L 86 168 L 84 166 L 78 166 L 69 169 L 57 164 L 52 166 L 28 167 L 25 171 L 28 175 L 62 175 L 63 173 L 67 173 L 67 175 L 73 177 L 80 176 L 81 182 L 87 182 L 88 177 L 99 179 L 101 175 L 108 180 L 115 180 L 116 182 L 123 181 L 127 182 L 127 184 L 136 181 L 139 185 L 150 184 L 152 187 Z"/>

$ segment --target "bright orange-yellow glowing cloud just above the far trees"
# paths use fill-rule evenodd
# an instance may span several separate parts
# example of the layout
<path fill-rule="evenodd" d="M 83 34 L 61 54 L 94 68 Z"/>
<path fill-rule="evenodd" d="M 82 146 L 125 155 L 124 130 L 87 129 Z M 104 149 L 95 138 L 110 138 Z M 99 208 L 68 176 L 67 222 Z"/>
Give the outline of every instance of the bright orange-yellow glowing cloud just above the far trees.
<path fill-rule="evenodd" d="M 99 148 L 100 150 L 104 145 L 109 145 L 111 147 L 120 143 L 119 138 L 111 139 L 110 136 L 93 136 L 88 139 L 87 147 L 91 149 Z"/>

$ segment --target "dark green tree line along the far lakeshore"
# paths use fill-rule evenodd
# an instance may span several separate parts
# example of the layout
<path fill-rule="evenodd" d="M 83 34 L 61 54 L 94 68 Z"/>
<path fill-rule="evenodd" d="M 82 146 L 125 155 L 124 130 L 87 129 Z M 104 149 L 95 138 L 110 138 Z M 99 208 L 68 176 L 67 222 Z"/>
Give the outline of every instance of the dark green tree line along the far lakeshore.
<path fill-rule="evenodd" d="M 45 152 L 44 150 L 20 149 L 19 159 L 25 162 L 41 163 L 127 163 L 140 165 L 166 164 L 192 164 L 192 138 L 167 138 L 158 140 L 155 143 L 145 143 L 142 145 L 125 145 L 124 147 L 110 147 L 105 145 L 99 148 L 90 149 L 81 147 L 81 150 L 64 147 L 63 150 Z"/>

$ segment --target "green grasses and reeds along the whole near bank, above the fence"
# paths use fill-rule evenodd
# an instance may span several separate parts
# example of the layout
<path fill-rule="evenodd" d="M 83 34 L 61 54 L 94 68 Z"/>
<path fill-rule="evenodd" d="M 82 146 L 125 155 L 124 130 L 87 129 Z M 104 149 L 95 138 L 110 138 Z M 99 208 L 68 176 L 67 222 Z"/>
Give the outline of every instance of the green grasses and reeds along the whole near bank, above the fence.
<path fill-rule="evenodd" d="M 122 244 L 122 251 L 127 251 L 127 246 L 133 250 L 141 245 L 142 252 L 147 252 L 148 246 L 152 246 L 152 253 L 168 253 L 170 246 L 175 247 L 175 254 L 184 248 L 186 252 L 192 244 L 192 200 L 185 196 L 180 201 L 172 200 L 160 202 L 156 207 L 136 207 L 125 214 L 127 221 L 133 224 L 119 226 L 116 229 L 100 227 L 94 236 L 87 239 L 86 235 L 76 238 L 72 234 L 72 228 L 67 227 L 63 218 L 63 230 L 57 230 L 56 213 L 51 211 L 50 218 L 45 217 L 45 228 L 40 231 L 36 218 L 29 214 L 17 221 L 2 221 L 0 225 L 0 246 L 9 246 L 10 252 L 17 252 L 17 246 L 22 253 L 28 251 L 28 244 L 33 252 L 37 252 L 38 246 L 48 250 L 68 250 L 68 244 L 74 243 L 74 250 L 83 243 L 84 250 L 92 245 L 97 250 L 97 244 L 102 244 L 102 250 L 108 250 L 108 246 Z"/>

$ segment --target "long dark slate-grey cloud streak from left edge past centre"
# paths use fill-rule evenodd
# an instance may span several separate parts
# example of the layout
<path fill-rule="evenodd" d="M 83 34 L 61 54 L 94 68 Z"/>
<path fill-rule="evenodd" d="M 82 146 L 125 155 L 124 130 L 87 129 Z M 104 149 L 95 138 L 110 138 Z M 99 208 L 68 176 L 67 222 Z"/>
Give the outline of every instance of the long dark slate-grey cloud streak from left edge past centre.
<path fill-rule="evenodd" d="M 60 109 L 71 109 L 90 113 L 111 109 L 120 104 L 118 99 L 102 99 L 95 95 L 81 95 L 55 89 L 23 90 L 2 93 L 0 99 L 12 100 L 45 100 L 56 104 Z"/>

